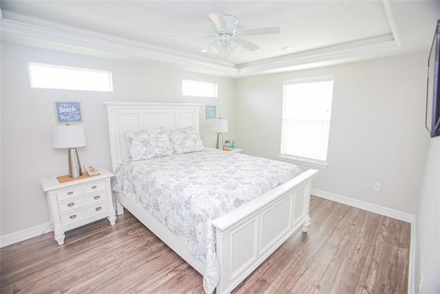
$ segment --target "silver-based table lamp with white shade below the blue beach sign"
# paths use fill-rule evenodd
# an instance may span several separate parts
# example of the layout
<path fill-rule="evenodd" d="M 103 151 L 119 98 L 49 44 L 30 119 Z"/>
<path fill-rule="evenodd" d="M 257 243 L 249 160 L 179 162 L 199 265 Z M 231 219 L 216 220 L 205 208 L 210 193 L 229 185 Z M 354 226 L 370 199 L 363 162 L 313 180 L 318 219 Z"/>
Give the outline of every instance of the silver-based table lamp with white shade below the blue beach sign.
<path fill-rule="evenodd" d="M 55 125 L 52 127 L 52 147 L 67 148 L 69 178 L 83 176 L 76 147 L 86 145 L 82 125 Z"/>

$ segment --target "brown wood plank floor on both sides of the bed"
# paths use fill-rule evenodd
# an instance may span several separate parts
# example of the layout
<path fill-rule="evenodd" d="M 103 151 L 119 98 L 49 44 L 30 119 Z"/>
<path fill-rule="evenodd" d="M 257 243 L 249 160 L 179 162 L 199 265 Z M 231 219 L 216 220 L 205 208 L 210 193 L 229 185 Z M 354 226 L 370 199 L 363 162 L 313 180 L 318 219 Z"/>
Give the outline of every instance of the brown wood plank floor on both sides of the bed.
<path fill-rule="evenodd" d="M 232 294 L 407 293 L 410 224 L 311 198 L 298 231 Z M 0 292 L 204 293 L 202 278 L 130 213 L 1 249 Z"/>

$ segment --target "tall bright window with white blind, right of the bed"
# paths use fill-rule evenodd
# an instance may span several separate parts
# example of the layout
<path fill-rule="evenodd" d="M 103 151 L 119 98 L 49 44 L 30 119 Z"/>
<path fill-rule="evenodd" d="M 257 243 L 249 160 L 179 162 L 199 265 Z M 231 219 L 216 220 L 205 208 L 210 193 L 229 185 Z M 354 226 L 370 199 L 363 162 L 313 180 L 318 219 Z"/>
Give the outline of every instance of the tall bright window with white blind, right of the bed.
<path fill-rule="evenodd" d="M 284 83 L 281 159 L 326 165 L 333 78 Z"/>

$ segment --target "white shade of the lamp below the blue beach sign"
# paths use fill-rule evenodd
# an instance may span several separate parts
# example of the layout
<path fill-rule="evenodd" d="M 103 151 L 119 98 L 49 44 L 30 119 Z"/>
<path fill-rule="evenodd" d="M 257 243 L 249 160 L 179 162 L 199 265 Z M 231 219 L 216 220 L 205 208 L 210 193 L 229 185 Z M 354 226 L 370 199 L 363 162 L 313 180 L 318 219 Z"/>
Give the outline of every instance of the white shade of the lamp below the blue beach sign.
<path fill-rule="evenodd" d="M 87 145 L 82 125 L 55 125 L 52 127 L 52 147 L 76 148 Z"/>

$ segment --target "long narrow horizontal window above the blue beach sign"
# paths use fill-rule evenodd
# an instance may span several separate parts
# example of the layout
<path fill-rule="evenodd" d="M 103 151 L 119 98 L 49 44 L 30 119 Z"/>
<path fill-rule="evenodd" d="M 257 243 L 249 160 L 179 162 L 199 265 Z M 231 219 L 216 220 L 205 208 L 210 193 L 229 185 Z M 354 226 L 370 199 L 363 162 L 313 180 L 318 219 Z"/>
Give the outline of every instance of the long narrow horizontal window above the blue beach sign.
<path fill-rule="evenodd" d="M 87 68 L 29 63 L 34 88 L 113 92 L 111 72 Z"/>

